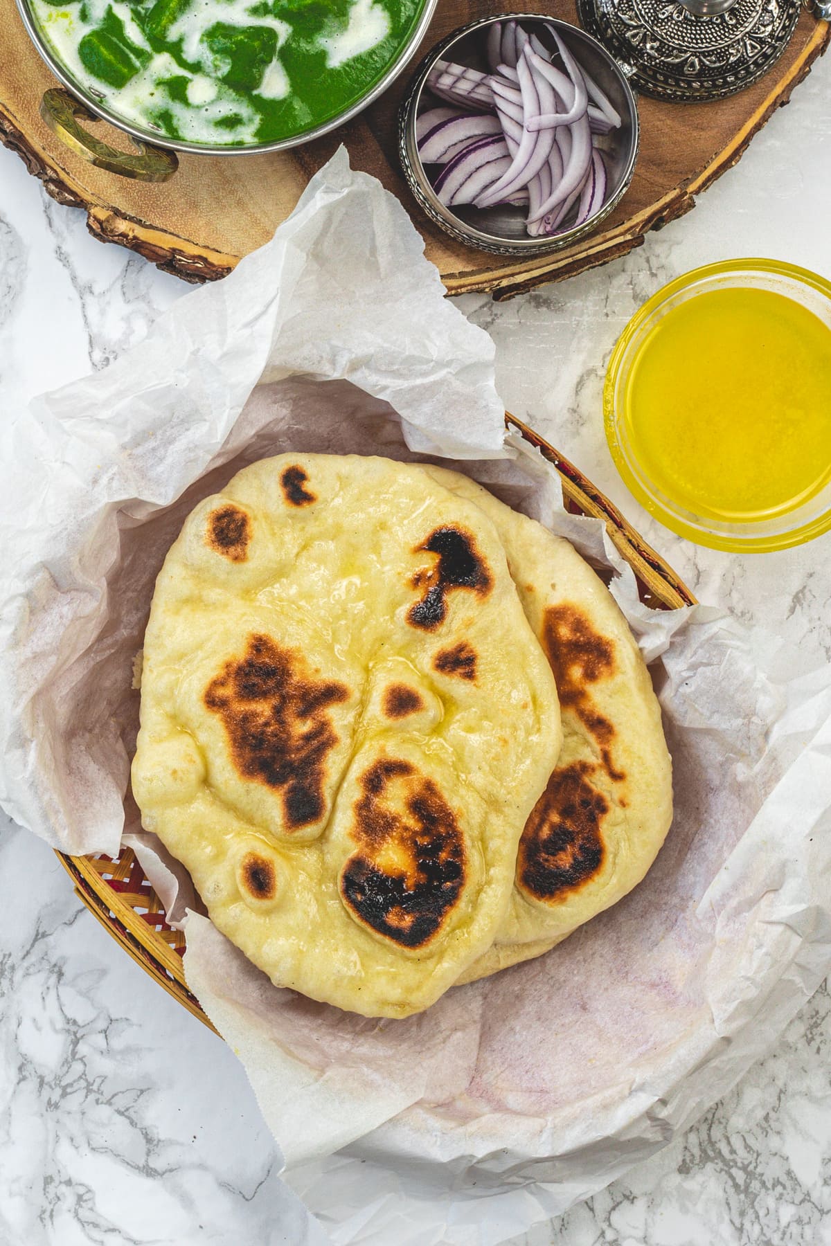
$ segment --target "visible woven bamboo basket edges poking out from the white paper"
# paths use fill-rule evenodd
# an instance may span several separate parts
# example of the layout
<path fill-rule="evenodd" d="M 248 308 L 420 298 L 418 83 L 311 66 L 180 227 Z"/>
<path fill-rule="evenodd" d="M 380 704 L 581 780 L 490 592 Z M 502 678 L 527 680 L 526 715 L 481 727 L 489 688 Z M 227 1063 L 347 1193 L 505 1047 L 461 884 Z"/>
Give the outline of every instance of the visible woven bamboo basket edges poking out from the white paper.
<path fill-rule="evenodd" d="M 515 416 L 506 415 L 506 424 L 536 446 L 557 470 L 567 510 L 605 522 L 607 532 L 635 574 L 644 604 L 669 611 L 695 603 L 672 567 L 573 464 Z M 57 857 L 75 882 L 76 895 L 125 952 L 188 1012 L 213 1029 L 184 979 L 184 936 L 168 925 L 162 903 L 132 849 L 122 847 L 115 858 L 103 855 L 67 856 L 64 852 L 57 852 Z"/>

